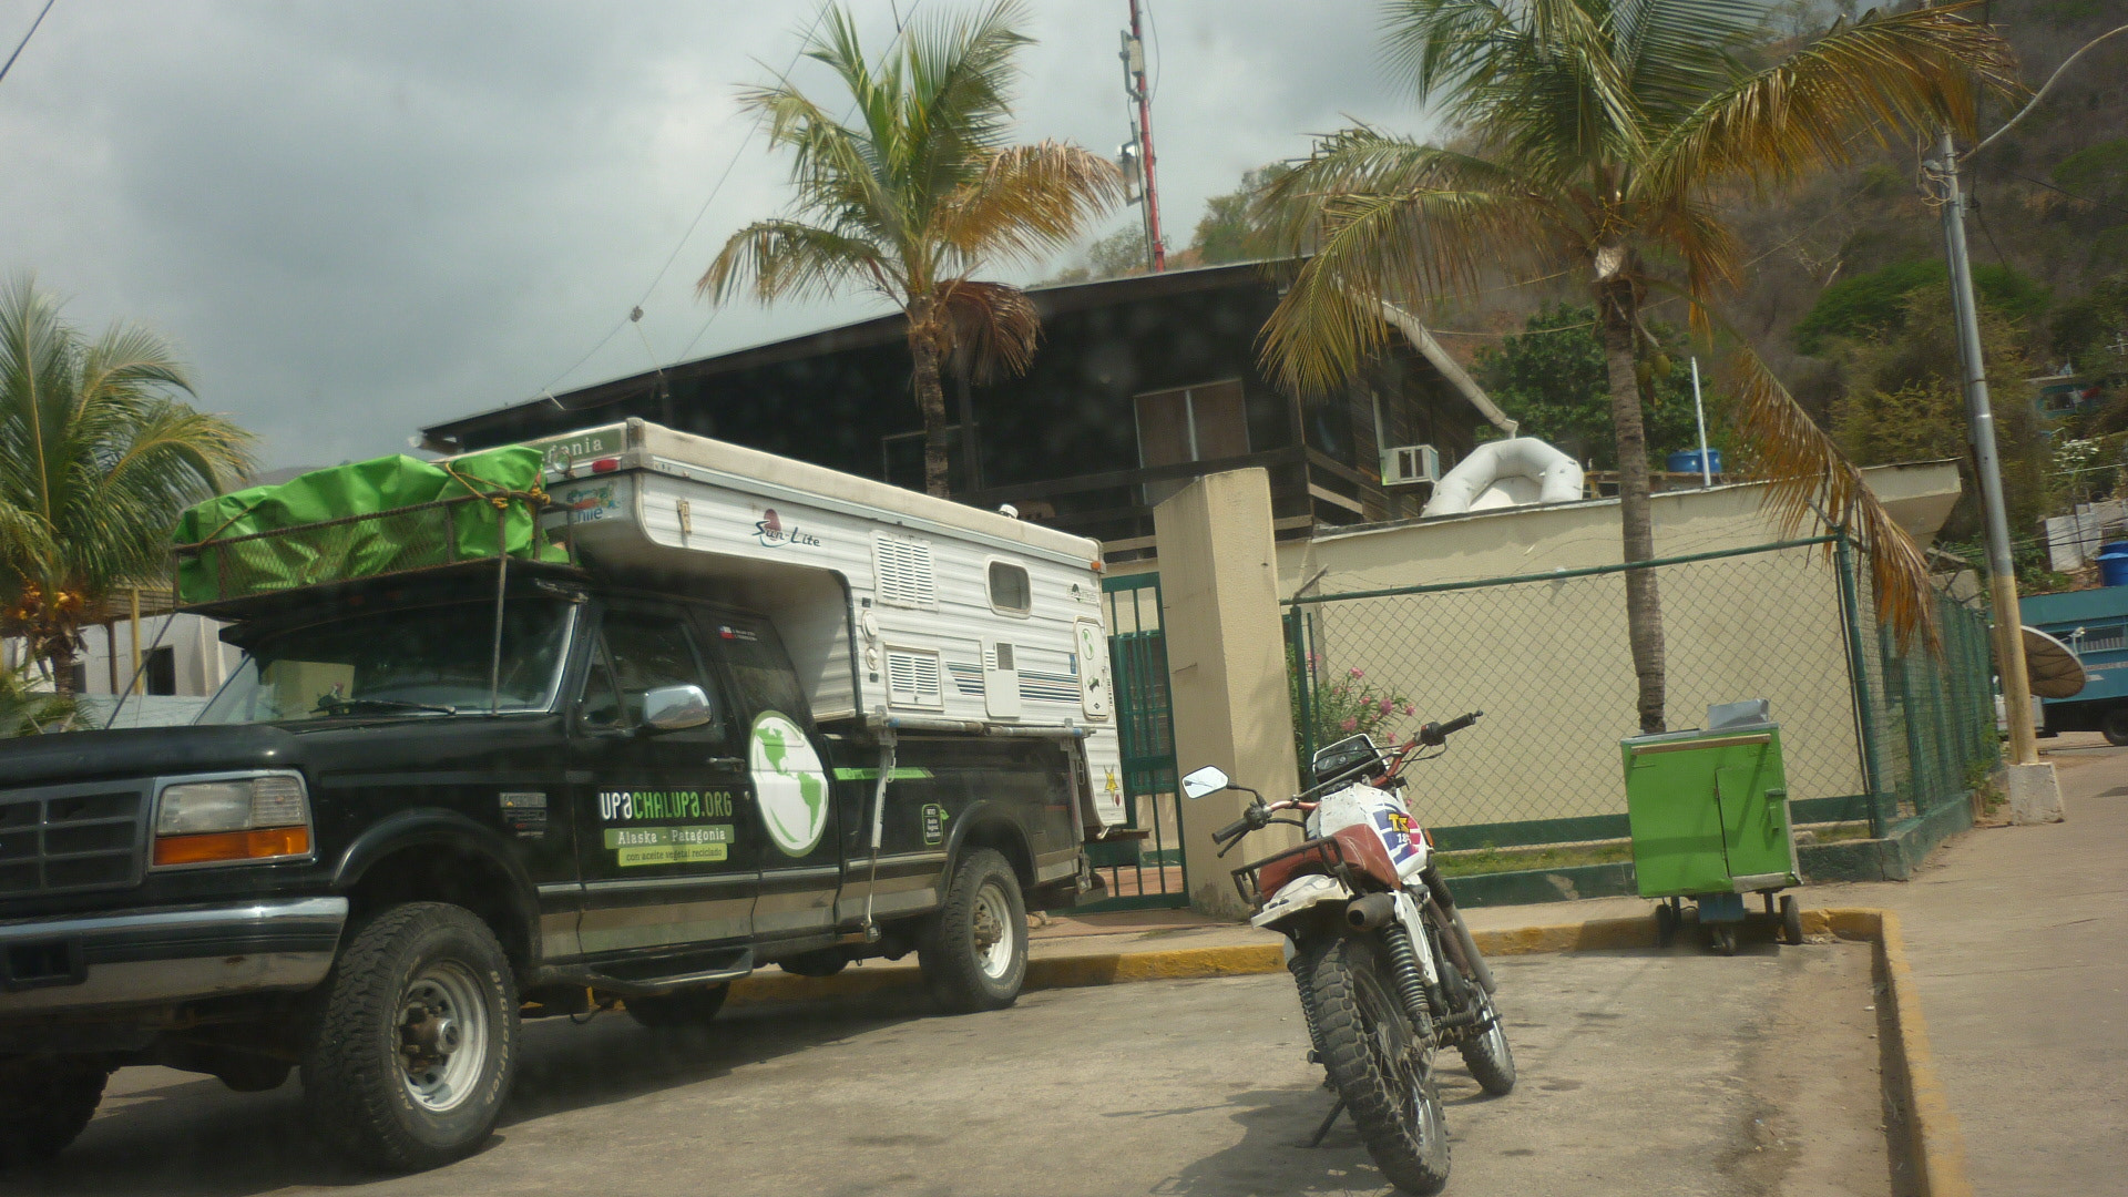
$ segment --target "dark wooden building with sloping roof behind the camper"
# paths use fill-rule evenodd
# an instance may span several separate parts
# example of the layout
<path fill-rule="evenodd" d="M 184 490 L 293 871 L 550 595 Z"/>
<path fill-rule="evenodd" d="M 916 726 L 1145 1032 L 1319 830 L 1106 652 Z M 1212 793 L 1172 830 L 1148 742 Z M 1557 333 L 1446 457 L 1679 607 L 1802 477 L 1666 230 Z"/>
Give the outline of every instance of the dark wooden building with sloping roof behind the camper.
<path fill-rule="evenodd" d="M 1038 288 L 1043 341 L 1021 377 L 947 377 L 953 498 L 1153 556 L 1153 505 L 1192 477 L 1270 471 L 1281 539 L 1417 515 L 1426 483 L 1385 483 L 1383 449 L 1441 469 L 1498 409 L 1415 322 L 1364 379 L 1296 398 L 1258 362 L 1279 288 L 1258 264 Z M 924 483 L 924 426 L 900 313 L 702 358 L 426 428 L 438 452 L 630 415 L 898 486 Z"/>

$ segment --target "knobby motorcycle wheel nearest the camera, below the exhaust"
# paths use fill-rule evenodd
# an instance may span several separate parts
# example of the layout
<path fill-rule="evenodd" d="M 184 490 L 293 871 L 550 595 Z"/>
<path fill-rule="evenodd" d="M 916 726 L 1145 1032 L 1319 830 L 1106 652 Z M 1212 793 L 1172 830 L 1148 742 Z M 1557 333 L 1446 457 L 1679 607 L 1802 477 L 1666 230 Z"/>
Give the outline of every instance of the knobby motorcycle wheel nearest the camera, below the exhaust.
<path fill-rule="evenodd" d="M 1362 937 L 1302 944 L 1296 975 L 1315 1001 L 1324 1067 L 1381 1176 L 1419 1197 L 1449 1182 L 1441 1095 L 1396 988 Z"/>

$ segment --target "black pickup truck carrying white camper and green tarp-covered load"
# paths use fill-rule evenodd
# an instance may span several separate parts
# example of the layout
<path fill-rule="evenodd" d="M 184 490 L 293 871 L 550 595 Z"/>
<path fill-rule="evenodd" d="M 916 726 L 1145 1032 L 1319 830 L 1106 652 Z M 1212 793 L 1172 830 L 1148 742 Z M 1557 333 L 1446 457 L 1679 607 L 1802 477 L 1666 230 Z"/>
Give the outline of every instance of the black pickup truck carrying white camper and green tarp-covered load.
<path fill-rule="evenodd" d="M 545 481 L 545 492 L 541 490 Z M 223 496 L 194 726 L 0 745 L 0 1165 L 111 1069 L 475 1150 L 519 1018 L 917 952 L 1013 1003 L 1121 822 L 1098 545 L 643 422 Z"/>

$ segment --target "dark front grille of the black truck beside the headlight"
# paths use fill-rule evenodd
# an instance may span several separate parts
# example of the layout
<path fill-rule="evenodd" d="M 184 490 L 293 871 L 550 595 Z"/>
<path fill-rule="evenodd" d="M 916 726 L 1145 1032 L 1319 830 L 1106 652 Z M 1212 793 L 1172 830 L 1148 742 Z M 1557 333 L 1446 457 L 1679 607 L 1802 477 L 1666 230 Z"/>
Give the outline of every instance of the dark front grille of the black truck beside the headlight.
<path fill-rule="evenodd" d="M 140 882 L 145 784 L 0 792 L 0 899 Z"/>

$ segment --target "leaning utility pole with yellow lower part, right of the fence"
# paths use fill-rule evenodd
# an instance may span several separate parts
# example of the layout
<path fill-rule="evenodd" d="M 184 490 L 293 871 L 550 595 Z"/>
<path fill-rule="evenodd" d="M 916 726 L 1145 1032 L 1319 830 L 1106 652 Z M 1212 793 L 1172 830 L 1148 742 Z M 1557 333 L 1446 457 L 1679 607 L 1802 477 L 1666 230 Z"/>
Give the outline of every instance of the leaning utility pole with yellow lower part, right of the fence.
<path fill-rule="evenodd" d="M 2039 743 L 2032 737 L 2032 684 L 2024 662 L 2024 616 L 2017 607 L 2017 569 L 2009 552 L 2002 462 L 1996 454 L 1994 409 L 1988 405 L 1979 305 L 1973 296 L 1973 262 L 1966 251 L 1966 198 L 1958 185 L 1958 147 L 1951 145 L 1951 130 L 1936 136 L 1936 162 L 1930 173 L 1941 187 L 1936 198 L 1943 204 L 1943 253 L 1951 275 L 1951 315 L 1958 319 L 1958 371 L 1966 392 L 1973 473 L 1981 479 L 1981 511 L 1988 528 L 1988 594 L 1996 611 L 1996 669 L 2002 679 L 2002 720 L 2009 724 L 2011 820 L 2054 822 L 2062 818 L 2062 797 L 2054 767 L 2041 765 Z M 2019 803 L 2019 799 L 2026 801 Z M 2022 818 L 2019 805 L 2041 814 Z"/>

